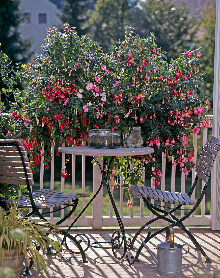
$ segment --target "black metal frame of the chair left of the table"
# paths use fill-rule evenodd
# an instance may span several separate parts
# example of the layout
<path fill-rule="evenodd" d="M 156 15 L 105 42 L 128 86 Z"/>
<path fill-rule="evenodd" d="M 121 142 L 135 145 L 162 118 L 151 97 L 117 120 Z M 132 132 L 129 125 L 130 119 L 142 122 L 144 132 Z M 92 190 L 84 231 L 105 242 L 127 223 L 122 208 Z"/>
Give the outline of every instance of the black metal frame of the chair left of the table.
<path fill-rule="evenodd" d="M 30 217 L 31 215 L 35 214 L 37 215 L 40 219 L 44 220 L 44 221 L 48 221 L 47 219 L 45 219 L 43 217 L 43 214 L 48 214 L 48 212 L 45 212 L 45 213 L 40 213 L 39 212 L 39 209 L 36 207 L 36 204 L 34 202 L 34 199 L 33 199 L 33 196 L 32 196 L 32 191 L 31 191 L 31 187 L 30 187 L 30 184 L 29 184 L 29 179 L 28 179 L 28 175 L 27 175 L 27 169 L 26 169 L 26 165 L 25 165 L 25 161 L 24 161 L 24 158 L 23 158 L 23 155 L 22 155 L 22 151 L 21 151 L 21 148 L 19 147 L 18 143 L 16 141 L 14 142 L 0 142 L 0 146 L 16 146 L 17 147 L 17 150 L 19 151 L 19 154 L 20 154 L 20 157 L 21 157 L 21 161 L 22 161 L 22 165 L 23 165 L 23 168 L 24 168 L 24 174 L 25 174 L 25 178 L 26 178 L 26 183 L 27 183 L 27 192 L 28 192 L 28 195 L 29 195 L 29 198 L 30 198 L 30 201 L 31 201 L 31 206 L 32 206 L 32 211 L 29 212 L 28 214 L 25 215 L 25 217 Z M 78 204 L 78 201 L 79 199 L 76 198 L 75 200 L 72 201 L 71 204 L 64 204 L 65 207 L 63 208 L 60 208 L 60 209 L 57 209 L 57 210 L 54 210 L 52 212 L 55 212 L 55 211 L 60 211 L 62 209 L 65 209 L 66 207 L 72 207 L 72 209 L 70 210 L 70 212 L 65 216 L 63 217 L 61 220 L 59 220 L 58 222 L 56 222 L 55 224 L 56 225 L 60 225 L 62 222 L 64 222 L 68 217 L 70 217 L 73 212 L 75 211 L 76 207 L 77 207 L 77 204 Z M 0 206 L 3 207 L 3 208 L 7 208 L 7 204 L 4 202 L 3 198 L 0 196 Z M 82 212 L 80 213 L 80 215 L 82 214 Z M 87 263 L 88 261 L 86 260 L 86 257 L 85 257 L 85 251 L 89 248 L 90 246 L 90 240 L 88 238 L 87 235 L 85 234 L 77 234 L 75 235 L 74 237 L 72 235 L 69 234 L 69 230 L 70 228 L 72 227 L 72 225 L 78 220 L 78 218 L 80 217 L 80 215 L 77 216 L 77 218 L 73 221 L 73 223 L 70 225 L 69 229 L 67 231 L 65 230 L 62 230 L 60 229 L 60 234 L 64 236 L 64 238 L 62 239 L 62 242 L 61 242 L 61 245 L 63 245 L 63 243 L 65 243 L 65 247 L 66 249 L 68 249 L 70 252 L 72 253 L 75 253 L 75 254 L 81 254 L 82 256 L 82 263 Z M 87 241 L 88 241 L 88 246 L 86 247 L 86 249 L 83 249 L 82 246 L 80 245 L 80 243 L 82 242 L 82 240 L 80 239 L 79 241 L 76 239 L 76 237 L 78 236 L 85 236 L 87 238 Z M 72 240 L 77 248 L 79 249 L 79 252 L 76 252 L 72 249 L 70 249 L 68 247 L 68 244 L 66 242 L 66 238 L 69 238 L 70 240 Z M 39 246 L 36 247 L 36 249 L 40 249 Z M 49 249 L 48 249 L 49 250 Z M 51 250 L 49 250 L 51 252 L 51 254 L 56 254 L 57 252 L 53 253 Z M 32 259 L 30 260 L 30 265 L 29 267 L 27 267 L 27 269 L 25 270 L 25 273 L 23 273 L 23 275 L 25 274 L 29 274 L 29 270 L 31 269 L 31 266 L 33 264 L 33 261 Z"/>

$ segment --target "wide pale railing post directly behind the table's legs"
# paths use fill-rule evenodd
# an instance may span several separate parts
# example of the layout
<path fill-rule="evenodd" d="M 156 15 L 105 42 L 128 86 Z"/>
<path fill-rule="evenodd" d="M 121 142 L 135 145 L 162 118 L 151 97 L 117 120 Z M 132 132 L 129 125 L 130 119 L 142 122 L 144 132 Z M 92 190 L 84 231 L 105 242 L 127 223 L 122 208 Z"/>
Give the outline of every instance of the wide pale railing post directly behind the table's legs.
<path fill-rule="evenodd" d="M 98 162 L 100 163 L 103 169 L 103 160 L 95 157 Z M 92 188 L 93 188 L 93 195 L 100 187 L 100 183 L 102 182 L 102 175 L 99 169 L 99 166 L 93 164 L 93 181 L 92 181 Z M 103 198 L 103 187 L 100 192 L 97 194 L 95 199 L 92 202 L 92 228 L 93 229 L 102 229 L 102 198 Z"/>

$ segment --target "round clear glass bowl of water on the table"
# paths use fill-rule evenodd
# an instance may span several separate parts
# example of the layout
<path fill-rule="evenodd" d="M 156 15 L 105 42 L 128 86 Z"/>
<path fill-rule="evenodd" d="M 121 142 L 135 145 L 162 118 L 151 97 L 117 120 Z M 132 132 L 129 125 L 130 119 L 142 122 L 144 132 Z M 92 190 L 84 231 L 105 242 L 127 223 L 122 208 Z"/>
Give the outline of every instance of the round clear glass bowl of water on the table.
<path fill-rule="evenodd" d="M 121 131 L 111 129 L 91 129 L 88 131 L 88 145 L 90 148 L 108 149 L 119 148 Z"/>

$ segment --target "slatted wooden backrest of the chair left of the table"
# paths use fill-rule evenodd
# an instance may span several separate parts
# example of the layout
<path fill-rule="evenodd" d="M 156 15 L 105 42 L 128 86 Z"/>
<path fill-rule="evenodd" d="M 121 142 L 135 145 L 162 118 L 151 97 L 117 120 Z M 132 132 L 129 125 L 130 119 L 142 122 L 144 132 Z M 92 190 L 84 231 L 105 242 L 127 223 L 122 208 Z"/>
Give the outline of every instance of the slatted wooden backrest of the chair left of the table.
<path fill-rule="evenodd" d="M 27 152 L 21 140 L 0 139 L 0 182 L 13 185 L 28 185 L 27 180 L 29 185 L 34 184 Z"/>

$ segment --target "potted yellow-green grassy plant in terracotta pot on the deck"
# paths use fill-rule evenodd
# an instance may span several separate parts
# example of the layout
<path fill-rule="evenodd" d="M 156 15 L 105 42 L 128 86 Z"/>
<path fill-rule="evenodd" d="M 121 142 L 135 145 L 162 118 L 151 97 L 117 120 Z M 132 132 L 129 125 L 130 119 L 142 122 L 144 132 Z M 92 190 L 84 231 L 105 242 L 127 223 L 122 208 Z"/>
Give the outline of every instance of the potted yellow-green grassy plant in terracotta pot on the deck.
<path fill-rule="evenodd" d="M 36 270 L 38 261 L 41 271 L 44 269 L 47 272 L 47 259 L 37 246 L 42 250 L 47 250 L 49 244 L 54 249 L 61 247 L 59 241 L 48 237 L 48 231 L 55 237 L 51 231 L 59 232 L 54 224 L 34 223 L 31 218 L 24 217 L 22 212 L 16 206 L 9 210 L 0 207 L 0 267 L 11 267 L 16 274 L 15 278 L 20 276 L 25 257 L 29 266 L 29 256 Z"/>

